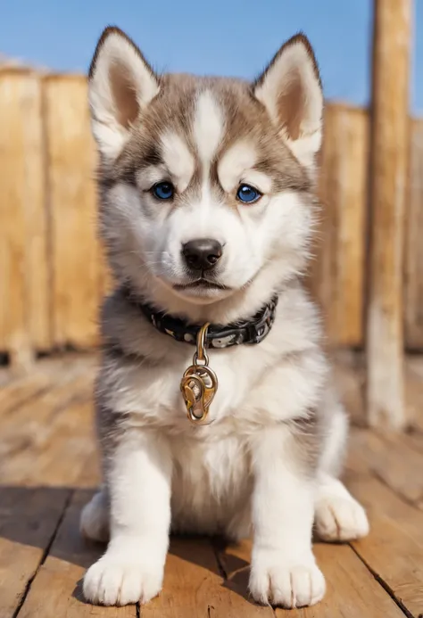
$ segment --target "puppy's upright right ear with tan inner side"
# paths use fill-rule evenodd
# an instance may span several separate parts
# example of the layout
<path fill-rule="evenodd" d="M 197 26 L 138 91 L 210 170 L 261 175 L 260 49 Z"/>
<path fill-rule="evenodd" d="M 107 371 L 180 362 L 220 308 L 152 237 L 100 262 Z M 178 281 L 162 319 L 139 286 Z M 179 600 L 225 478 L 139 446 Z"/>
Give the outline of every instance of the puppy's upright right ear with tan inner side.
<path fill-rule="evenodd" d="M 282 45 L 255 81 L 254 95 L 298 161 L 312 169 L 321 144 L 323 93 L 307 37 L 298 34 Z"/>

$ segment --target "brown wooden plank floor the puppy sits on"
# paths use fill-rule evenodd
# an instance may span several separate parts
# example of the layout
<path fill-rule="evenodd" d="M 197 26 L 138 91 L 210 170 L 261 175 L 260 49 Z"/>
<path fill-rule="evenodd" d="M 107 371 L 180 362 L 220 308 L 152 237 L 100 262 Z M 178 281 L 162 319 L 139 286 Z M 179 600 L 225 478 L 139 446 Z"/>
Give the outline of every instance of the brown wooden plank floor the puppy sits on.
<path fill-rule="evenodd" d="M 362 421 L 360 371 L 339 373 Z M 95 359 L 39 361 L 27 377 L 0 373 L 0 618 L 399 618 L 423 616 L 423 424 L 420 359 L 409 363 L 414 430 L 355 429 L 345 481 L 369 509 L 369 538 L 316 544 L 328 582 L 319 606 L 286 612 L 248 596 L 249 543 L 173 540 L 162 594 L 143 607 L 84 603 L 81 578 L 102 552 L 79 538 L 79 512 L 98 481 L 92 436 Z M 357 368 L 357 367 L 355 367 Z"/>

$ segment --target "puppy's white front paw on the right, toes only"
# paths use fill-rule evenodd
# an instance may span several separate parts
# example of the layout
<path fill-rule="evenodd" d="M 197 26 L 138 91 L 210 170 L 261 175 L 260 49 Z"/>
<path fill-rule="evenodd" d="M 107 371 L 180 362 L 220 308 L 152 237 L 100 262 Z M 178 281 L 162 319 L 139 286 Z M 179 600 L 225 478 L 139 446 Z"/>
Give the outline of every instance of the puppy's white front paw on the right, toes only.
<path fill-rule="evenodd" d="M 325 594 L 325 579 L 311 554 L 288 559 L 277 549 L 255 549 L 250 591 L 263 605 L 286 609 L 312 606 Z"/>

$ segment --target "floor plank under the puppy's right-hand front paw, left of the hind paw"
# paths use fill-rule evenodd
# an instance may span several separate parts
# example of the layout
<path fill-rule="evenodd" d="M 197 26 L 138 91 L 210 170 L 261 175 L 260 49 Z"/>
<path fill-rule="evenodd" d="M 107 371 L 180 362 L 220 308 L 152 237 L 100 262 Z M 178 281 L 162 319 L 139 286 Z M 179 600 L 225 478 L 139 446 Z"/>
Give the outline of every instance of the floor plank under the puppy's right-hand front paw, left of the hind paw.
<path fill-rule="evenodd" d="M 292 618 L 400 618 L 402 612 L 386 595 L 369 570 L 347 545 L 314 546 L 315 555 L 325 574 L 327 593 L 316 606 L 290 610 L 277 608 L 276 616 Z M 248 583 L 248 568 L 251 541 L 229 546 L 220 553 L 220 559 L 228 573 L 228 587 L 245 596 Z M 223 615 L 223 614 L 222 614 Z"/>

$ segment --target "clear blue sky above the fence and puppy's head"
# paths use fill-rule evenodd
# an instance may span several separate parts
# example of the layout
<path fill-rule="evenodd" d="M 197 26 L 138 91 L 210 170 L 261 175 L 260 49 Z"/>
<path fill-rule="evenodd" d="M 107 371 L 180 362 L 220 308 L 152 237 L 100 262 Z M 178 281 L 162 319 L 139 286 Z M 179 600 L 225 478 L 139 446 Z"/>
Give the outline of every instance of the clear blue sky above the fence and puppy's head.
<path fill-rule="evenodd" d="M 303 30 L 329 99 L 369 101 L 371 0 L 6 0 L 0 53 L 52 70 L 86 71 L 107 24 L 159 70 L 253 78 Z M 411 110 L 423 115 L 423 0 L 415 0 Z"/>

